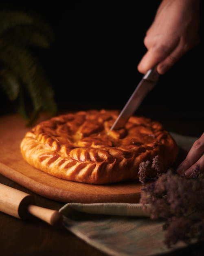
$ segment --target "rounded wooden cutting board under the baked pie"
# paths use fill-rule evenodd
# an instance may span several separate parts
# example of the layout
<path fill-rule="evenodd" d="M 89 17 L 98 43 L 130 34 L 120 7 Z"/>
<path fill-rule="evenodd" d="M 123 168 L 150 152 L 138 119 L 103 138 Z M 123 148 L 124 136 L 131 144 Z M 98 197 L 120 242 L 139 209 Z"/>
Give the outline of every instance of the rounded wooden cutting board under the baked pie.
<path fill-rule="evenodd" d="M 30 166 L 20 152 L 20 142 L 30 129 L 20 115 L 0 117 L 0 174 L 59 202 L 139 202 L 140 182 L 83 184 L 59 179 Z"/>

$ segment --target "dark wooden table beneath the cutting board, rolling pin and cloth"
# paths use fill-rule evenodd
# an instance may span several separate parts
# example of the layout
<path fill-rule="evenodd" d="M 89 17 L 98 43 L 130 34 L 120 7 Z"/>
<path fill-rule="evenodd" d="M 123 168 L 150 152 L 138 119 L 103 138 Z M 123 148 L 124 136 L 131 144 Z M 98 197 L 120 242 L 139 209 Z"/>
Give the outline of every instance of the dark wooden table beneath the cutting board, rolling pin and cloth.
<path fill-rule="evenodd" d="M 160 116 L 159 121 L 170 131 L 183 135 L 200 136 L 204 131 L 202 117 Z M 59 210 L 64 203 L 49 200 L 25 189 L 8 178 L 0 175 L 0 182 L 34 196 L 38 206 Z M 172 255 L 204 255 L 204 246 L 196 244 Z M 91 255 L 104 256 L 103 252 L 77 238 L 68 230 L 53 227 L 33 217 L 21 220 L 0 212 L 0 256 L 41 256 L 41 255 Z"/>

